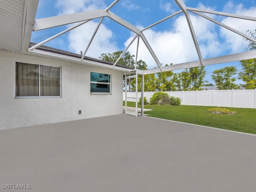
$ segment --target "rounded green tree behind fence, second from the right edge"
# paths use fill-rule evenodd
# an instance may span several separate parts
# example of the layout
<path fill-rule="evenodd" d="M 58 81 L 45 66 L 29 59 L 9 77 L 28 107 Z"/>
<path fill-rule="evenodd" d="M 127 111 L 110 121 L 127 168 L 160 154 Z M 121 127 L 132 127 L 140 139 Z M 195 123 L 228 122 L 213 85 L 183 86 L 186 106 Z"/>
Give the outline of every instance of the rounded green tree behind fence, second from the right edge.
<path fill-rule="evenodd" d="M 239 86 L 234 83 L 236 72 L 236 67 L 230 66 L 215 70 L 211 76 L 219 90 L 239 89 Z"/>

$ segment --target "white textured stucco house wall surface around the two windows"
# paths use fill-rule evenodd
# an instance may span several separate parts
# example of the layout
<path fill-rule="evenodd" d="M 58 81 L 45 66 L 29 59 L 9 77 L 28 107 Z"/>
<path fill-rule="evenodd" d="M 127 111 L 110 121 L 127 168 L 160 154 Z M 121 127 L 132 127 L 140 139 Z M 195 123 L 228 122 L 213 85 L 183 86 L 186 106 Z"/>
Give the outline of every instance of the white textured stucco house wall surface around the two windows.
<path fill-rule="evenodd" d="M 17 62 L 60 68 L 60 96 L 17 97 Z M 110 75 L 110 93 L 91 92 L 91 72 Z M 118 70 L 0 50 L 0 129 L 121 114 L 122 78 Z"/>

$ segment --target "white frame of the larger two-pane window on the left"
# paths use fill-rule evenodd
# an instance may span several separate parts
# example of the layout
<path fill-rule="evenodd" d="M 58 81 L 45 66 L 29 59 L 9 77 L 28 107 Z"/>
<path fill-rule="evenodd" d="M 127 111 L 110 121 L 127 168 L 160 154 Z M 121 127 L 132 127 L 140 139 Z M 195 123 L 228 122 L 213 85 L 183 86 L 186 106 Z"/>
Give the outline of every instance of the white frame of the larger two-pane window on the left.
<path fill-rule="evenodd" d="M 38 95 L 39 96 L 16 96 L 16 63 L 24 63 L 24 64 L 32 64 L 38 65 Z M 61 66 L 54 66 L 54 65 L 45 65 L 45 64 L 38 64 L 32 62 L 24 62 L 24 61 L 15 61 L 14 62 L 14 98 L 62 98 L 62 68 Z M 56 67 L 60 68 L 60 96 L 40 96 L 40 66 L 48 66 L 48 67 Z"/>

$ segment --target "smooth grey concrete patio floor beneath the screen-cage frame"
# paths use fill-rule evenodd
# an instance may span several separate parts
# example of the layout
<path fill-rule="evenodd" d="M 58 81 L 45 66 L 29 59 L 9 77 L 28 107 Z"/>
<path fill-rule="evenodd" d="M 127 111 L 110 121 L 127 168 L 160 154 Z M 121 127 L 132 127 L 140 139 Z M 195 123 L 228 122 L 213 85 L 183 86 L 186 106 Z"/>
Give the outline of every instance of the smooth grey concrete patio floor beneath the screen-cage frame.
<path fill-rule="evenodd" d="M 3 184 L 33 192 L 256 192 L 256 136 L 124 114 L 0 131 Z"/>

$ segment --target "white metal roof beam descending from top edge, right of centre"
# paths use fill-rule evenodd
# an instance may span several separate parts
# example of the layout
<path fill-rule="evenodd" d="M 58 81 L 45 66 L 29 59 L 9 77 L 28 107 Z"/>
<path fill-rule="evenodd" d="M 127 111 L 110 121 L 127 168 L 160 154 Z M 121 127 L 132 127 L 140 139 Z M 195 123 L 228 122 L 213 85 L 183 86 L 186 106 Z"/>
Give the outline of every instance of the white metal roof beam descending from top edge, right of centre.
<path fill-rule="evenodd" d="M 188 10 L 186 8 L 186 5 L 184 4 L 184 2 L 182 0 L 175 0 L 175 2 L 180 7 L 180 9 L 184 12 L 184 14 L 186 16 L 186 19 L 187 19 L 187 22 L 188 22 L 188 27 L 190 29 L 190 32 L 191 32 L 191 35 L 192 35 L 192 38 L 193 38 L 193 41 L 194 41 L 194 45 L 196 47 L 196 52 L 198 54 L 200 64 L 203 65 L 202 54 L 201 54 L 201 51 L 200 51 L 200 48 L 199 48 L 199 45 L 198 45 L 198 41 L 196 39 L 196 34 L 195 34 L 195 31 L 194 31 L 190 16 L 188 14 Z"/>

